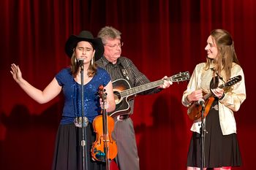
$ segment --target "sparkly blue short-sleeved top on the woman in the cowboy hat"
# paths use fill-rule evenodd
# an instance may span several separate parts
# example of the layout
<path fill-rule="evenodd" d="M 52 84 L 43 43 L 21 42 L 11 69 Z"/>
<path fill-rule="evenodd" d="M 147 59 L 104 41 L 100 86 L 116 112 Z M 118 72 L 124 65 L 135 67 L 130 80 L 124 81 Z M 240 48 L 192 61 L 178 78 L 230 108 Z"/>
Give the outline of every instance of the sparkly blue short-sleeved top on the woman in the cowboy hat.
<path fill-rule="evenodd" d="M 64 93 L 64 109 L 61 117 L 61 124 L 72 123 L 75 117 L 81 114 L 81 85 L 75 82 L 71 69 L 62 69 L 56 74 L 56 80 L 61 85 Z M 97 68 L 97 73 L 86 85 L 83 85 L 84 116 L 92 123 L 94 118 L 100 114 L 99 96 L 97 94 L 99 85 L 104 87 L 110 82 L 110 75 L 105 69 Z"/>

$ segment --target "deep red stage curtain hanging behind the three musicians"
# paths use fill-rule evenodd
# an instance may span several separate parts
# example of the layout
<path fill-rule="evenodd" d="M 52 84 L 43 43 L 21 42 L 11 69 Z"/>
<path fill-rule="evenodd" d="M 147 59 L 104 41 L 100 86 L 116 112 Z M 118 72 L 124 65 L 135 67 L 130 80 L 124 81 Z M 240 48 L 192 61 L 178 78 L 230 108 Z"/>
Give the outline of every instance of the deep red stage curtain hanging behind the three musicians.
<path fill-rule="evenodd" d="M 10 64 L 43 89 L 69 66 L 64 44 L 70 34 L 103 26 L 122 32 L 122 54 L 152 81 L 178 72 L 192 74 L 205 61 L 214 28 L 233 35 L 246 78 L 247 99 L 236 114 L 244 165 L 255 169 L 255 7 L 253 0 L 1 0 L 0 163 L 1 169 L 50 169 L 61 96 L 37 104 L 12 80 Z M 141 169 L 186 169 L 191 121 L 181 96 L 187 83 L 135 99 L 132 119 Z"/>

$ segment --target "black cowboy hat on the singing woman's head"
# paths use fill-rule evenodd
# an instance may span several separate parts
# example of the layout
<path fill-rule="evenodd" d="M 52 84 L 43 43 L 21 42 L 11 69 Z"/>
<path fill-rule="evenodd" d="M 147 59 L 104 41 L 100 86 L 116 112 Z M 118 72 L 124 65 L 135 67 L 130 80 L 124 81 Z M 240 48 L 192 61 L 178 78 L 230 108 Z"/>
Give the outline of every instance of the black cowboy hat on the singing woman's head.
<path fill-rule="evenodd" d="M 94 36 L 91 34 L 90 31 L 81 31 L 78 36 L 71 35 L 69 36 L 69 39 L 67 39 L 66 45 L 65 45 L 65 52 L 69 56 L 69 58 L 72 57 L 72 54 L 74 53 L 74 48 L 78 44 L 78 42 L 86 41 L 91 42 L 91 44 L 94 47 L 95 50 L 95 56 L 94 61 L 99 60 L 99 58 L 102 57 L 104 53 L 104 46 L 102 44 L 102 39 L 100 38 L 94 38 Z"/>

